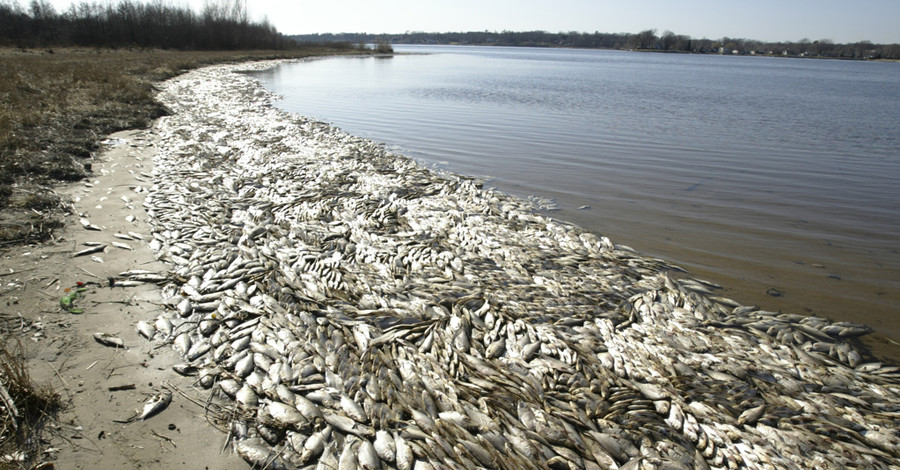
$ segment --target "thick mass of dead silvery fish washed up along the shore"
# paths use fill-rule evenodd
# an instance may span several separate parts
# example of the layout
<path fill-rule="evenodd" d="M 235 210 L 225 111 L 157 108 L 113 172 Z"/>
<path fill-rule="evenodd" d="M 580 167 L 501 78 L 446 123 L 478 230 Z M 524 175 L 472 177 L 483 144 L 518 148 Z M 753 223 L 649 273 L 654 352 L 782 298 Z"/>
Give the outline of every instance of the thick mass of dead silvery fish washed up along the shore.
<path fill-rule="evenodd" d="M 162 85 L 144 204 L 172 309 L 142 328 L 252 465 L 896 468 L 900 375 L 866 328 L 719 297 L 234 70 Z"/>

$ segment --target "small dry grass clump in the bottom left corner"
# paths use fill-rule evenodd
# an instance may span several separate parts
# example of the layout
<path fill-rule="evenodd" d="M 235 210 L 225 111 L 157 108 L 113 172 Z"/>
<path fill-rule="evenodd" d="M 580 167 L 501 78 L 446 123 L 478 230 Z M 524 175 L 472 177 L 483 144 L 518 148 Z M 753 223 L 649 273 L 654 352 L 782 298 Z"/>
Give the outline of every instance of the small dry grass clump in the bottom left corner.
<path fill-rule="evenodd" d="M 0 469 L 30 468 L 40 459 L 44 424 L 62 406 L 50 385 L 35 383 L 25 367 L 21 343 L 0 344 Z"/>

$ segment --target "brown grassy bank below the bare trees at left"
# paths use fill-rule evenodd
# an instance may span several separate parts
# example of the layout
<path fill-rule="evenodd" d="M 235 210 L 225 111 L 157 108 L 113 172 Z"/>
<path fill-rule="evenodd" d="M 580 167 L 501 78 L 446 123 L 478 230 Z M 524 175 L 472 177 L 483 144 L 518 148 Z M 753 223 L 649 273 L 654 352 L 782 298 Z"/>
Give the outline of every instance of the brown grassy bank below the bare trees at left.
<path fill-rule="evenodd" d="M 0 49 L 0 246 L 52 236 L 66 205 L 53 186 L 90 175 L 104 135 L 165 114 L 154 82 L 214 63 L 359 52 Z"/>

